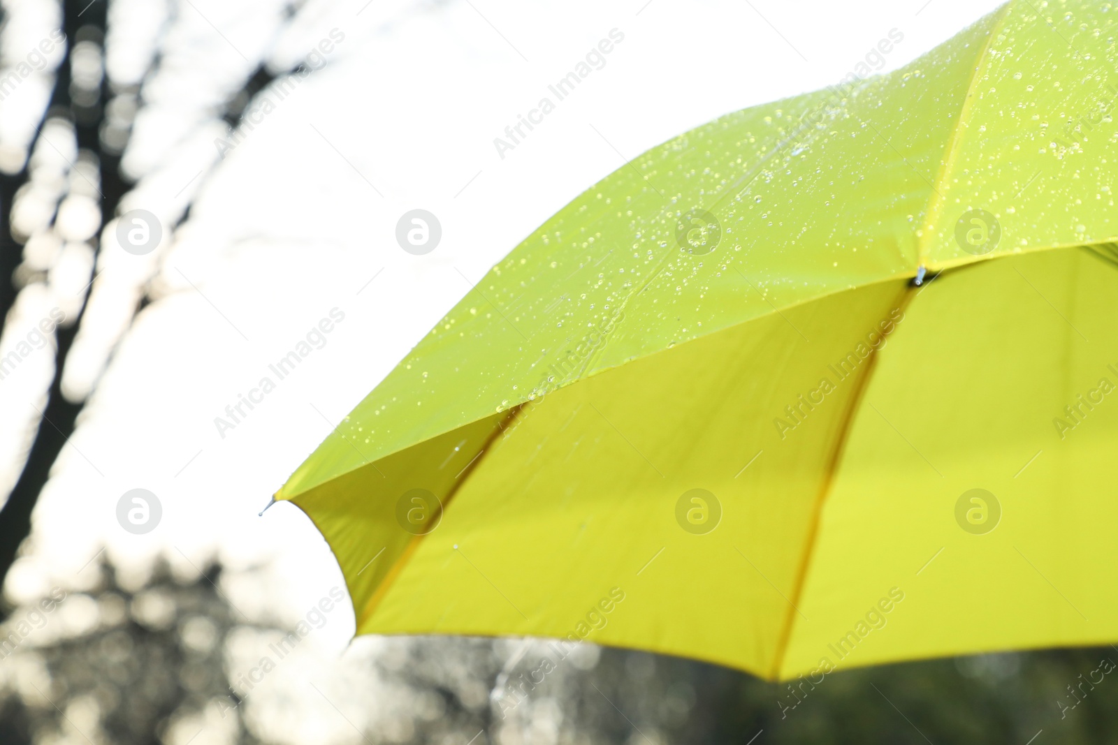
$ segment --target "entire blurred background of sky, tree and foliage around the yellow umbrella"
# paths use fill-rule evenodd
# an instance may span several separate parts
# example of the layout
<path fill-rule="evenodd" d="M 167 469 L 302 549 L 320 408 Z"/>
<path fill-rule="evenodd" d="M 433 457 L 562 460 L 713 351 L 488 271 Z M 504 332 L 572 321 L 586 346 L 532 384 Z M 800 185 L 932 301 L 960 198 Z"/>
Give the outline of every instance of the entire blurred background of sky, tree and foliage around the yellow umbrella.
<path fill-rule="evenodd" d="M 510 707 L 544 641 L 352 639 L 313 526 L 257 515 L 595 181 L 720 114 L 896 69 L 995 6 L 0 0 L 0 742 L 1115 742 L 1116 648 L 793 688 L 585 644 Z M 442 226 L 423 256 L 396 241 L 413 209 Z M 119 239 L 133 210 L 146 254 Z M 321 348 L 216 427 L 334 309 Z M 117 518 L 132 489 L 160 506 L 146 533 Z"/>

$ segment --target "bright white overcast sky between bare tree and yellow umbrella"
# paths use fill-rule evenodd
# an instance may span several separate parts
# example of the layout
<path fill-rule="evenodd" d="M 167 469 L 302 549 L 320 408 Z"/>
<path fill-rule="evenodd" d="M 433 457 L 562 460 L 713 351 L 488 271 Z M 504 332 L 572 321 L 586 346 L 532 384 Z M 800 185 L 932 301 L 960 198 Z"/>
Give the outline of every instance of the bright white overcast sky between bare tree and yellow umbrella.
<path fill-rule="evenodd" d="M 140 12 L 142 4 L 115 3 L 122 13 L 125 6 L 138 9 L 136 34 L 150 16 Z M 253 56 L 271 38 L 272 27 L 259 18 L 278 7 L 191 4 L 205 18 L 183 6 L 169 31 L 187 50 L 178 58 L 180 83 L 195 66 L 243 65 L 237 50 Z M 127 329 L 74 447 L 56 465 L 35 515 L 34 552 L 6 586 L 13 599 L 50 584 L 79 586 L 78 570 L 102 545 L 117 562 L 138 566 L 161 553 L 187 573 L 190 562 L 216 551 L 244 570 L 226 588 L 238 608 L 249 614 L 271 609 L 294 622 L 331 586 L 344 586 L 341 575 L 294 506 L 276 505 L 263 518 L 257 512 L 470 289 L 462 275 L 480 279 L 566 202 L 623 165 L 623 155 L 721 114 L 835 83 L 891 29 L 904 38 L 882 70 L 900 67 L 997 3 L 363 4 L 311 0 L 300 11 L 297 32 L 274 50 L 275 59 L 293 63 L 334 28 L 344 40 L 284 101 L 273 94 L 274 111 L 193 182 L 216 159 L 220 128 L 184 117 L 174 108 L 187 106 L 181 102 L 136 123 L 126 164 L 149 178 L 127 207 L 173 216 L 191 197 L 193 203 L 157 254 L 116 249 L 103 259 L 106 283 L 114 274 L 142 278 L 145 261 L 158 261 L 155 299 Z M 149 27 L 158 20 L 157 13 Z M 615 28 L 624 41 L 605 67 L 502 160 L 493 139 Z M 127 55 L 117 56 L 116 64 L 130 64 Z M 169 95 L 155 85 L 146 94 Z M 177 95 L 192 94 L 180 87 Z M 397 220 L 415 208 L 436 214 L 443 227 L 440 245 L 426 256 L 406 254 L 395 240 Z M 219 437 L 214 418 L 334 307 L 345 318 L 326 346 Z M 11 343 L 6 337 L 0 348 Z M 38 354 L 44 360 L 25 361 L 20 374 L 49 372 L 49 357 Z M 100 366 L 89 370 L 93 380 Z M 34 395 L 13 400 L 10 391 L 18 389 L 9 382 L 0 385 L 8 386 L 0 403 L 22 417 Z M 13 441 L 11 432 L 0 438 Z M 0 462 L 4 467 L 12 468 Z M 10 480 L 10 474 L 0 477 L 0 485 Z M 163 507 L 159 527 L 142 536 L 123 531 L 115 517 L 117 499 L 138 487 Z M 249 574 L 249 567 L 257 569 Z M 313 638 L 322 655 L 337 657 L 352 632 L 343 609 Z M 344 725 L 335 734 L 353 737 Z"/>

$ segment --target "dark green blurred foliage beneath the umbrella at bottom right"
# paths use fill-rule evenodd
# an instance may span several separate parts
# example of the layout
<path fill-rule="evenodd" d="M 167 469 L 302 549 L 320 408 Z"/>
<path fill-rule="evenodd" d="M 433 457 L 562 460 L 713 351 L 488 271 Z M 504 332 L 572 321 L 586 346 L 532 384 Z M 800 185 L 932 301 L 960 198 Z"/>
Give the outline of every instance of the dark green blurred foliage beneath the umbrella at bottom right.
<path fill-rule="evenodd" d="M 647 661 L 634 662 L 642 657 Z M 1023 745 L 1043 729 L 1036 742 L 1078 745 L 1118 742 L 1118 676 L 1102 671 L 1102 659 L 1118 661 L 1118 650 L 904 662 L 835 672 L 814 688 L 796 681 L 793 694 L 788 682 L 606 650 L 595 677 L 636 726 L 656 723 L 669 742 L 748 743 L 764 729 L 758 743 Z M 643 682 L 633 675 L 641 668 L 647 670 Z M 676 696 L 683 700 L 675 703 Z M 681 716 L 688 701 L 693 705 Z M 627 723 L 617 716 L 614 724 L 614 737 L 624 736 Z"/>

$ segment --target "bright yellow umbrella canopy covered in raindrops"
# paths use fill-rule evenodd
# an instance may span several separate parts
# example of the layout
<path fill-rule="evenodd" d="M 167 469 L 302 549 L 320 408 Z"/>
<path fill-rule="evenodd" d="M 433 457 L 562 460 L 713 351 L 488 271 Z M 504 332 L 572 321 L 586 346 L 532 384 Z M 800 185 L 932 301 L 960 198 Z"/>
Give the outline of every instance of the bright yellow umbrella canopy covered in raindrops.
<path fill-rule="evenodd" d="M 1010 2 L 541 226 L 276 495 L 358 632 L 767 678 L 1118 639 L 1108 9 Z"/>

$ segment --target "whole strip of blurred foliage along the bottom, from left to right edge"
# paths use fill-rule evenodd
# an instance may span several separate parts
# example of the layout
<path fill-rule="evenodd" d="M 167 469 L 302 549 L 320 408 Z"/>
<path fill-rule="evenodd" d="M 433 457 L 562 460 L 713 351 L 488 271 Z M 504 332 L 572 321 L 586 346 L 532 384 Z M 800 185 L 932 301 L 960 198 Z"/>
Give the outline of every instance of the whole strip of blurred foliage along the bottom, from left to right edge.
<path fill-rule="evenodd" d="M 96 586 L 68 592 L 15 651 L 0 650 L 0 743 L 272 742 L 233 693 L 229 644 L 238 631 L 286 631 L 246 621 L 218 590 L 220 574 L 210 564 L 183 581 L 161 564 L 126 589 L 103 564 Z M 34 608 L 12 609 L 0 632 Z M 358 676 L 342 708 L 356 698 L 382 711 L 330 742 L 1118 742 L 1114 647 L 907 662 L 814 686 L 593 646 L 560 659 L 538 639 L 362 638 L 342 657 Z M 555 665 L 540 675 L 544 657 Z M 300 677 L 281 685 L 303 695 Z"/>

